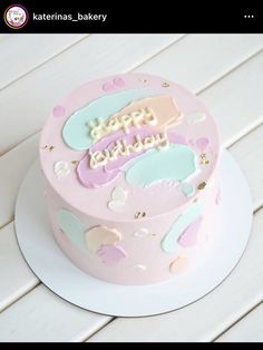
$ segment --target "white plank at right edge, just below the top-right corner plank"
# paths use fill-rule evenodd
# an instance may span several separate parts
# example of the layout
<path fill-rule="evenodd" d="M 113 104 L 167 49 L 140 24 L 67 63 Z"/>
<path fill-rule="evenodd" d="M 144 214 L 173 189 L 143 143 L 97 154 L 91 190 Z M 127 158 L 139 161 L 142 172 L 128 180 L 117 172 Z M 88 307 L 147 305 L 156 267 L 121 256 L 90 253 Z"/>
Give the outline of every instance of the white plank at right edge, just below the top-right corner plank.
<path fill-rule="evenodd" d="M 263 120 L 263 52 L 201 94 L 225 146 Z"/>

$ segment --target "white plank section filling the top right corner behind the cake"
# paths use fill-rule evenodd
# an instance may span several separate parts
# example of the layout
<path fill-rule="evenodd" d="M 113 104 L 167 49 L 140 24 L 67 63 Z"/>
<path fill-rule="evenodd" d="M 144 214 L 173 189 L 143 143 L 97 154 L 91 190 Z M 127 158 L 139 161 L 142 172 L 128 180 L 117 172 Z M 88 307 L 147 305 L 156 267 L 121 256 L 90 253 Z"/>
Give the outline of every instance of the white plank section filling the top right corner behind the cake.
<path fill-rule="evenodd" d="M 191 35 L 136 68 L 198 93 L 263 48 L 263 35 Z"/>

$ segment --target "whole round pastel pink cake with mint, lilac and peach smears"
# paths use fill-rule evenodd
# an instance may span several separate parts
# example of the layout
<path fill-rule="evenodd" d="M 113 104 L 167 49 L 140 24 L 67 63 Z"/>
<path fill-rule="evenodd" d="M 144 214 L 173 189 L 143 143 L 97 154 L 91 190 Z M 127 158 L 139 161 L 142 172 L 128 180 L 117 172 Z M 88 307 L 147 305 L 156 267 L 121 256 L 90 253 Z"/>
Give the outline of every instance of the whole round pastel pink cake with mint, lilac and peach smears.
<path fill-rule="evenodd" d="M 78 268 L 148 284 L 194 269 L 218 220 L 220 142 L 206 107 L 160 77 L 90 81 L 40 138 L 51 230 Z"/>

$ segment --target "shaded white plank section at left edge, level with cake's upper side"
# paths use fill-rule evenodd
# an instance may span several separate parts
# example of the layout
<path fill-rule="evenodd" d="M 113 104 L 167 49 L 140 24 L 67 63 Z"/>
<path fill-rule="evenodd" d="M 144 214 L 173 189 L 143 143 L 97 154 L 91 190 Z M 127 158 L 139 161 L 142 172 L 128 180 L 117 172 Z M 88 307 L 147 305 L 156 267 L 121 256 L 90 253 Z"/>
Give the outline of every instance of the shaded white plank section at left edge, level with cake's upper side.
<path fill-rule="evenodd" d="M 0 157 L 0 227 L 13 220 L 20 182 L 38 156 L 39 134 Z"/>

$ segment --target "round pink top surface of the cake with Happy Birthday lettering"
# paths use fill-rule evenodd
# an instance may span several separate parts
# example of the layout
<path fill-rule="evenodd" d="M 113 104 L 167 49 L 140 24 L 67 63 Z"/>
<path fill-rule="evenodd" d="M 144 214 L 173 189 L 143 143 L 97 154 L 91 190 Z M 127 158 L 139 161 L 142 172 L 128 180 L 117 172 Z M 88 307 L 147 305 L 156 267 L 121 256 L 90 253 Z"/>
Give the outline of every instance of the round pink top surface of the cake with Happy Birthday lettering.
<path fill-rule="evenodd" d="M 212 179 L 218 135 L 206 107 L 160 77 L 90 81 L 53 108 L 40 138 L 46 178 L 78 211 L 104 220 L 162 215 Z"/>

